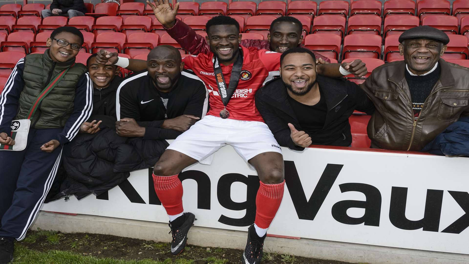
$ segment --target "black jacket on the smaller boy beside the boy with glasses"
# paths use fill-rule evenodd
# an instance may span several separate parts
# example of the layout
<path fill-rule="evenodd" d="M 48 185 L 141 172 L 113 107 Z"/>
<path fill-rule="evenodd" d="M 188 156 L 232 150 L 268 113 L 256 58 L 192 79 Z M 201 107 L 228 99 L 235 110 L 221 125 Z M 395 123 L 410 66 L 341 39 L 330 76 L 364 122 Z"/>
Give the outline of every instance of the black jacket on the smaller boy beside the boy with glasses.
<path fill-rule="evenodd" d="M 106 88 L 93 88 L 93 112 L 92 116 L 105 115 L 116 118 L 116 93 L 122 82 L 119 76 L 114 77 Z"/>

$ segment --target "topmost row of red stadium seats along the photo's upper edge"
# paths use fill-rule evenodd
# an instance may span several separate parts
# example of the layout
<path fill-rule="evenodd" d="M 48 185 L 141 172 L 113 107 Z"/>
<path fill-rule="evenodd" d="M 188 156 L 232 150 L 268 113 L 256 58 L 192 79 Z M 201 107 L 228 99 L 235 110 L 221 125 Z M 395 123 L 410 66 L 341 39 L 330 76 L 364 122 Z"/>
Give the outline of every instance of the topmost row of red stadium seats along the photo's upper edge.
<path fill-rule="evenodd" d="M 440 14 L 456 16 L 461 21 L 463 16 L 469 14 L 469 0 L 455 0 L 453 8 L 448 0 L 387 0 L 382 2 L 378 0 L 325 0 L 319 3 L 315 1 L 297 0 L 285 1 L 268 0 L 258 4 L 251 1 L 231 2 L 229 5 L 223 1 L 207 1 L 199 5 L 197 2 L 180 2 L 178 10 L 179 16 L 218 16 L 218 15 L 236 15 L 243 16 L 245 20 L 250 16 L 268 15 L 268 16 L 286 16 L 286 15 L 305 15 L 313 18 L 318 15 L 376 15 L 386 18 L 390 15 L 411 15 L 423 19 L 425 16 Z M 151 8 L 144 3 L 128 2 L 120 6 L 116 3 L 98 3 L 93 7 L 91 3 L 85 3 L 89 16 L 153 16 Z M 41 10 L 44 4 L 26 4 L 22 7 L 19 4 L 6 4 L 0 7 L 1 15 L 10 16 L 41 16 Z"/>

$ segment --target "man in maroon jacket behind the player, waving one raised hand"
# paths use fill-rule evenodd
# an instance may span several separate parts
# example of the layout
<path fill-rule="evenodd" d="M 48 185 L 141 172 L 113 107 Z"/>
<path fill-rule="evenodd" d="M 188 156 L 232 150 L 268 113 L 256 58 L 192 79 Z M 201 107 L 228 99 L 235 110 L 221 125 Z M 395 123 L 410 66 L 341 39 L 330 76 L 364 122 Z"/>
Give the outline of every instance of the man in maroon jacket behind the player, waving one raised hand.
<path fill-rule="evenodd" d="M 171 38 L 175 39 L 181 47 L 188 50 L 190 54 L 209 53 L 210 46 L 208 44 L 208 37 L 205 39 L 198 35 L 189 25 L 176 18 L 179 4 L 176 3 L 173 9 L 169 5 L 168 0 L 160 1 L 161 4 L 158 0 L 154 3 L 147 1 L 147 3 L 153 9 L 156 18 L 163 24 L 163 27 Z M 293 16 L 281 16 L 272 21 L 267 40 L 242 39 L 240 46 L 257 47 L 258 49 L 267 49 L 283 53 L 290 48 L 298 46 L 303 47 L 302 41 L 302 23 Z M 325 56 L 316 52 L 314 52 L 314 54 L 317 58 L 316 63 L 324 64 L 330 62 Z M 350 73 L 356 75 L 356 77 L 362 77 L 367 71 L 365 63 L 360 61 L 360 66 L 361 67 L 356 67 L 356 71 L 350 71 L 348 68 L 345 68 L 345 70 L 350 71 Z"/>

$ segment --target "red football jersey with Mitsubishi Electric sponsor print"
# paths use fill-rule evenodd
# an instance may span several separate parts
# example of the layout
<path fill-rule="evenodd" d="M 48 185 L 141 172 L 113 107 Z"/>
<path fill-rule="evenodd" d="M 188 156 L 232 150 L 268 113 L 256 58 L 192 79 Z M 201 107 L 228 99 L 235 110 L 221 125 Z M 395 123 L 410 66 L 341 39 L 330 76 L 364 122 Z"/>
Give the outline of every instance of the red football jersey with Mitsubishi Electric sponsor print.
<path fill-rule="evenodd" d="M 256 47 L 242 47 L 243 63 L 238 87 L 227 104 L 228 118 L 243 121 L 264 122 L 257 111 L 254 95 L 267 81 L 279 76 L 280 53 L 270 50 L 258 50 Z M 215 73 L 213 72 L 213 53 L 187 56 L 183 60 L 184 68 L 192 70 L 209 91 L 210 110 L 207 115 L 220 116 L 224 105 L 219 95 Z M 228 87 L 233 64 L 220 63 L 223 77 Z"/>

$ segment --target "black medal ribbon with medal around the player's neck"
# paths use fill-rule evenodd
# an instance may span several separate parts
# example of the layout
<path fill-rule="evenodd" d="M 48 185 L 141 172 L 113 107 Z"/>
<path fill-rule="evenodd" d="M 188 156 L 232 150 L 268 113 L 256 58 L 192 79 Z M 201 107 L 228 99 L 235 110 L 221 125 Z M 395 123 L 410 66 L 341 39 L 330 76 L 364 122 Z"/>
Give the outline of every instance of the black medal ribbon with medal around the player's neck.
<path fill-rule="evenodd" d="M 221 101 L 225 108 L 220 111 L 220 117 L 225 119 L 230 116 L 230 113 L 227 110 L 227 104 L 233 96 L 234 90 L 238 87 L 239 78 L 241 75 L 241 68 L 242 68 L 242 50 L 239 50 L 239 55 L 236 61 L 233 63 L 233 69 L 231 70 L 231 77 L 230 83 L 228 84 L 225 82 L 225 77 L 223 76 L 223 72 L 221 70 L 218 57 L 214 55 L 215 61 L 213 62 L 213 72 L 215 73 L 215 81 L 217 82 L 218 91 L 220 93 Z"/>

